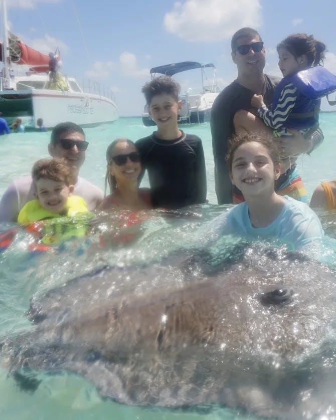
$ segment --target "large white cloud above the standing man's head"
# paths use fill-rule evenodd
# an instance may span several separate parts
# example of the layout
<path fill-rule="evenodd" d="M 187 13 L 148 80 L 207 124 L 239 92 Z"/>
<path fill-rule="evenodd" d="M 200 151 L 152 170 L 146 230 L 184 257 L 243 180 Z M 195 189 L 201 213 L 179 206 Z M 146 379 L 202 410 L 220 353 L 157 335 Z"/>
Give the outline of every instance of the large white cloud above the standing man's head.
<path fill-rule="evenodd" d="M 261 25 L 260 0 L 187 0 L 164 16 L 165 29 L 187 41 L 221 41 L 239 28 Z"/>

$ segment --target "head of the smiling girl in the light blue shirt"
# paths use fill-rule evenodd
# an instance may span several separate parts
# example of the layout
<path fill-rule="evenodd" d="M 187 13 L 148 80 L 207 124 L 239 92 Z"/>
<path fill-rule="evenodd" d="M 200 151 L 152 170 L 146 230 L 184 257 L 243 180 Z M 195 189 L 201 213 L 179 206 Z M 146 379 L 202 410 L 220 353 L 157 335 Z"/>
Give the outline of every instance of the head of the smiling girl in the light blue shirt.
<path fill-rule="evenodd" d="M 271 135 L 242 134 L 230 142 L 227 155 L 231 182 L 245 199 L 274 192 L 280 176 L 280 156 Z"/>

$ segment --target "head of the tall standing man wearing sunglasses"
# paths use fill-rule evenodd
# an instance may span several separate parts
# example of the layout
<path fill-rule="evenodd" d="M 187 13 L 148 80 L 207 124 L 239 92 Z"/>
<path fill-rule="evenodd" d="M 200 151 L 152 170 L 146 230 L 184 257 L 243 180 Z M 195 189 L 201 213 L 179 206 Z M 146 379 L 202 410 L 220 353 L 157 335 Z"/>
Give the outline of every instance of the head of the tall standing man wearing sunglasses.
<path fill-rule="evenodd" d="M 237 65 L 238 76 L 262 74 L 265 67 L 265 48 L 259 33 L 252 28 L 239 29 L 231 39 L 231 57 Z"/>

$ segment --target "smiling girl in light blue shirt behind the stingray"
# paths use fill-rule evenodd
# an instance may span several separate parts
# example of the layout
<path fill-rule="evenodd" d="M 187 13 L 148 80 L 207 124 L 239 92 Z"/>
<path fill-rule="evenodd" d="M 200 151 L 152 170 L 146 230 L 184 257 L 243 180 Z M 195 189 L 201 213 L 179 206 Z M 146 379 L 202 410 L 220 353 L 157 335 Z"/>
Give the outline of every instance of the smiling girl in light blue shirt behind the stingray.
<path fill-rule="evenodd" d="M 300 248 L 324 234 L 315 213 L 303 202 L 280 196 L 274 181 L 280 157 L 266 134 L 242 134 L 232 140 L 227 161 L 230 178 L 245 201 L 218 218 L 222 234 L 279 239 L 289 249 Z"/>

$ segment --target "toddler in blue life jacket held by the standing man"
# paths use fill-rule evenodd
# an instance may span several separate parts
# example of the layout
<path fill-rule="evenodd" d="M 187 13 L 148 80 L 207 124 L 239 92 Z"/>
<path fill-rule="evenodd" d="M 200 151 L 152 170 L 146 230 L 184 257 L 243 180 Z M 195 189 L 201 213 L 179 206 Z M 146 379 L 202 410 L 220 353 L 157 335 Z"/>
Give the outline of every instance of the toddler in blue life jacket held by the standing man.
<path fill-rule="evenodd" d="M 272 109 L 266 107 L 262 95 L 251 99 L 274 136 L 290 136 L 288 128 L 302 134 L 317 128 L 320 98 L 336 90 L 336 76 L 321 66 L 325 48 L 307 34 L 290 35 L 277 46 L 284 77 L 274 90 Z"/>

